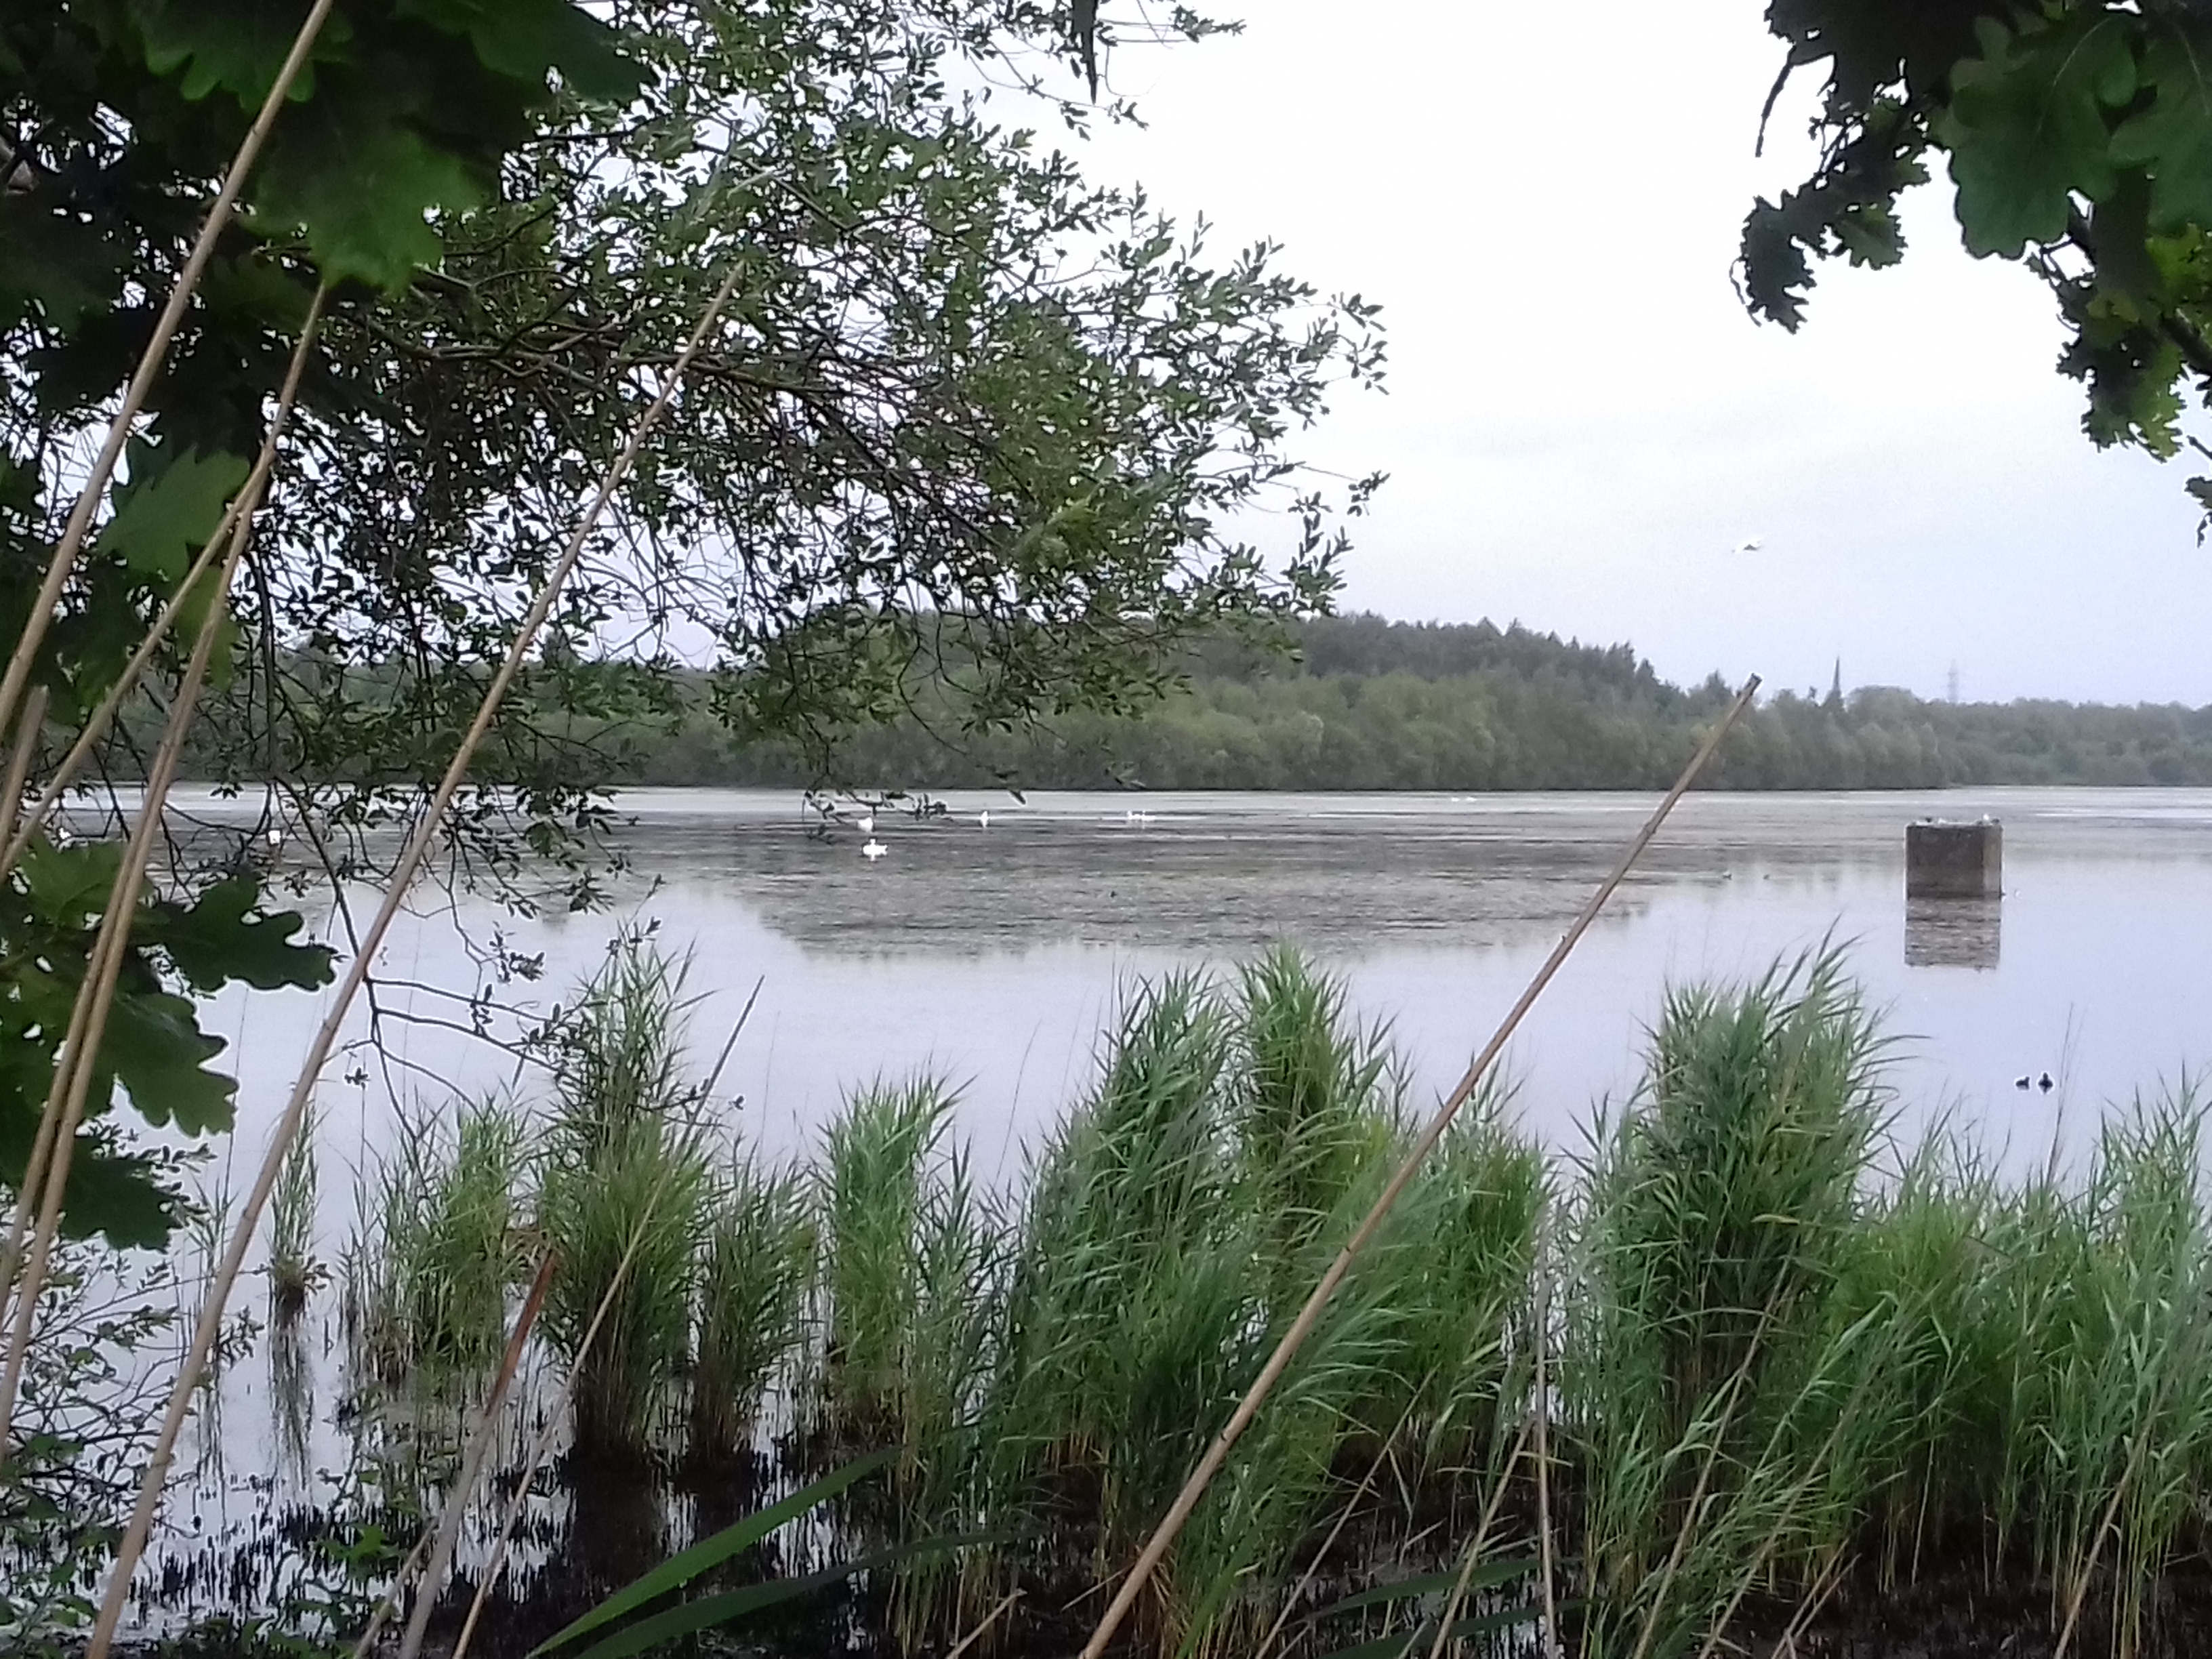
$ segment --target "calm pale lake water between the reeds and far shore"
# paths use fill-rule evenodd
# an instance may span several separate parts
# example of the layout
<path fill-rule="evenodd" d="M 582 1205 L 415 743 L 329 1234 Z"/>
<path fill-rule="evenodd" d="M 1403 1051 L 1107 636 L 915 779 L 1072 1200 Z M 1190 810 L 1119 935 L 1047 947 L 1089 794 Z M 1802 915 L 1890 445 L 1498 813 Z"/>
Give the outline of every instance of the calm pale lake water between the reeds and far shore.
<path fill-rule="evenodd" d="M 332 1150 L 376 1146 L 392 1091 L 493 1086 L 513 1062 L 458 1035 L 484 993 L 542 1013 L 617 925 L 692 956 L 701 1071 L 759 1000 L 721 1091 L 759 1144 L 812 1144 L 874 1075 L 962 1086 L 978 1168 L 1015 1175 L 1091 1077 L 1124 989 L 1177 967 L 1230 971 L 1294 940 L 1387 1020 L 1418 1104 L 1449 1088 L 1652 796 L 1004 794 L 949 796 L 947 821 L 883 816 L 869 838 L 805 832 L 790 792 L 628 792 L 635 876 L 604 914 L 515 918 L 425 900 L 392 936 L 383 1053 L 334 1062 Z M 978 816 L 989 812 L 989 825 Z M 1905 825 L 2004 823 L 2004 898 L 1902 896 Z M 493 940 L 544 956 L 491 984 Z M 1668 982 L 1741 978 L 1836 938 L 1900 1040 L 1907 1126 L 1953 1113 L 2013 1159 L 2068 1144 L 2101 1106 L 2212 1053 L 2212 792 L 1982 790 L 1683 801 L 1509 1048 L 1515 1110 L 1577 1146 L 1635 1084 Z M 436 987 L 447 995 L 418 987 Z M 241 1066 L 246 1150 L 305 1048 L 314 998 L 234 995 L 215 1026 Z M 431 1020 L 425 1024 L 425 1020 Z M 502 1018 L 491 1020 L 509 1029 Z M 365 1035 L 356 1020 L 356 1035 Z M 2048 1071 L 2048 1095 L 2020 1075 Z M 347 1073 L 354 1082 L 347 1082 Z"/>

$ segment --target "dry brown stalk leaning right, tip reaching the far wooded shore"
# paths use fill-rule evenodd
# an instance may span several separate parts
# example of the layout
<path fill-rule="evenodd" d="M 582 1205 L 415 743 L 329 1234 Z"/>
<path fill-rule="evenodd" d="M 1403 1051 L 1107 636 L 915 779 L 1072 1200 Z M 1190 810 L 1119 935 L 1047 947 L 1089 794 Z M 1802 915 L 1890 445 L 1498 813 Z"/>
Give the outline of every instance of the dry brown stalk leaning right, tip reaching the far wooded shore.
<path fill-rule="evenodd" d="M 1427 1128 L 1422 1128 L 1420 1139 L 1413 1141 L 1413 1148 L 1407 1152 L 1396 1175 L 1391 1175 L 1389 1186 L 1383 1188 L 1380 1197 L 1374 1201 L 1374 1208 L 1367 1210 L 1365 1219 L 1360 1219 L 1360 1225 L 1352 1232 L 1352 1239 L 1345 1241 L 1345 1248 L 1336 1252 L 1336 1261 L 1332 1261 L 1327 1272 L 1321 1274 L 1321 1283 L 1314 1285 L 1314 1292 L 1305 1298 L 1305 1307 L 1298 1310 L 1298 1318 L 1294 1318 L 1290 1329 L 1283 1332 L 1283 1340 L 1274 1345 L 1274 1354 L 1267 1356 L 1267 1363 L 1252 1380 L 1252 1387 L 1245 1389 L 1245 1396 L 1237 1402 L 1237 1411 L 1230 1413 L 1230 1420 L 1221 1427 L 1221 1433 L 1217 1433 L 1212 1444 L 1206 1447 L 1206 1455 L 1199 1458 L 1199 1464 L 1190 1471 L 1190 1478 L 1183 1482 L 1183 1489 L 1175 1495 L 1175 1502 L 1168 1506 L 1168 1513 L 1152 1531 L 1152 1537 L 1146 1540 L 1144 1553 L 1137 1557 L 1137 1564 L 1128 1571 L 1128 1577 L 1121 1579 L 1121 1588 L 1115 1590 L 1113 1604 L 1106 1608 L 1097 1628 L 1091 1632 L 1091 1639 L 1084 1644 L 1082 1659 L 1099 1659 L 1099 1655 L 1106 1652 L 1106 1646 L 1113 1641 L 1115 1630 L 1121 1628 L 1121 1621 L 1128 1617 L 1130 1608 L 1137 1606 L 1137 1597 L 1144 1595 L 1144 1586 L 1159 1568 L 1159 1562 L 1166 1557 L 1168 1546 L 1175 1542 L 1175 1535 L 1183 1531 L 1183 1522 L 1190 1520 L 1190 1511 L 1199 1506 L 1199 1498 L 1212 1484 L 1212 1478 L 1221 1471 L 1221 1464 L 1230 1455 L 1230 1447 L 1237 1444 L 1239 1436 L 1243 1436 L 1243 1431 L 1252 1425 L 1252 1418 L 1259 1416 L 1261 1405 L 1265 1405 L 1267 1396 L 1274 1391 L 1274 1385 L 1283 1378 L 1283 1371 L 1290 1369 L 1290 1360 L 1305 1345 L 1305 1338 L 1314 1334 L 1314 1325 L 1321 1323 L 1321 1312 L 1327 1307 L 1329 1296 L 1336 1294 L 1336 1285 L 1340 1285 L 1345 1274 L 1352 1270 L 1352 1263 L 1358 1256 L 1358 1252 L 1367 1245 L 1367 1241 L 1376 1234 L 1376 1230 L 1396 1208 L 1398 1199 L 1405 1194 L 1407 1186 L 1411 1186 L 1413 1175 L 1420 1170 L 1422 1161 L 1429 1157 L 1431 1150 L 1436 1150 L 1436 1144 L 1444 1139 L 1444 1130 L 1451 1128 L 1451 1121 L 1460 1115 L 1460 1108 L 1475 1093 L 1475 1084 L 1482 1082 L 1482 1075 L 1498 1060 L 1498 1053 L 1506 1046 L 1506 1040 L 1526 1018 L 1528 1009 L 1535 1006 L 1535 1000 L 1544 993 L 1544 987 L 1551 984 L 1553 975 L 1573 953 L 1582 936 L 1590 931 L 1590 922 L 1597 920 L 1597 914 L 1606 907 L 1606 900 L 1613 898 L 1613 889 L 1628 878 L 1628 872 L 1635 867 L 1637 858 L 1644 856 L 1644 849 L 1652 843 L 1652 836 L 1659 834 L 1659 825 L 1668 821 L 1668 814 L 1674 812 L 1674 803 L 1681 801 L 1681 796 L 1690 790 L 1690 785 L 1697 781 L 1697 774 L 1705 770 L 1705 761 L 1710 761 L 1714 750 L 1721 748 L 1721 739 L 1728 737 L 1728 730 L 1750 706 L 1756 690 L 1759 690 L 1759 675 L 1752 675 L 1743 684 L 1743 690 L 1736 692 L 1736 699 L 1714 723 L 1714 728 L 1705 734 L 1705 741 L 1699 743 L 1697 754 L 1690 757 L 1690 765 L 1686 765 L 1681 776 L 1674 779 L 1674 787 L 1666 792 L 1666 799 L 1659 801 L 1659 807 L 1637 832 L 1637 838 L 1628 843 L 1628 852 L 1621 854 L 1621 860 L 1613 867 L 1613 874 L 1606 876 L 1606 880 L 1597 887 L 1595 894 L 1590 894 L 1590 902 L 1582 907 L 1582 914 L 1566 929 L 1566 936 L 1553 947 L 1551 956 L 1544 958 L 1544 967 L 1540 967 L 1535 971 L 1535 978 L 1528 980 L 1528 989 L 1520 993 L 1520 1000 L 1500 1022 L 1491 1040 L 1482 1046 L 1482 1053 L 1475 1055 L 1473 1064 L 1467 1068 L 1467 1075 L 1460 1077 L 1458 1088 L 1451 1091 L 1451 1095 L 1438 1108 L 1436 1117 L 1431 1117 Z M 102 1657 L 91 1655 L 91 1659 L 102 1659 Z"/>

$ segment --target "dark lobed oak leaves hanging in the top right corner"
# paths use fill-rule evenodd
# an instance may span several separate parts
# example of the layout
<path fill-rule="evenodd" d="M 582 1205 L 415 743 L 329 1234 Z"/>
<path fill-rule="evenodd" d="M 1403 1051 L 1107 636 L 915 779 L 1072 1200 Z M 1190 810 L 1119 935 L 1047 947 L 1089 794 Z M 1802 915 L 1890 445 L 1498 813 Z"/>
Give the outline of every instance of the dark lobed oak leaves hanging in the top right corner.
<path fill-rule="evenodd" d="M 1949 164 L 1969 252 L 2053 292 L 2097 445 L 2188 442 L 2212 389 L 2212 13 L 2190 0 L 1770 0 L 1783 80 L 1827 82 L 1814 175 L 1743 226 L 1754 316 L 1796 330 L 1814 261 L 1891 265 L 1898 195 Z M 1776 82 L 1776 95 L 1781 80 Z M 1772 111 L 1772 97 L 1767 108 Z M 2190 491 L 2212 511 L 2212 478 Z"/>

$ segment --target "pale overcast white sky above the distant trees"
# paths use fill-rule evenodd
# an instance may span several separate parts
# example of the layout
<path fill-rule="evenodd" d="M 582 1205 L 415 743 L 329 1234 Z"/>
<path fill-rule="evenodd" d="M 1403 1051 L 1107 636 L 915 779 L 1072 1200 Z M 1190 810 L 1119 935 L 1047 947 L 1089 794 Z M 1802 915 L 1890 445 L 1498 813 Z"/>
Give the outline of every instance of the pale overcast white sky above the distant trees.
<path fill-rule="evenodd" d="M 1389 394 L 1310 445 L 1391 473 L 1354 608 L 1628 639 L 1670 679 L 1840 657 L 1942 695 L 1955 661 L 1969 699 L 2212 703 L 2185 462 L 2090 447 L 2046 290 L 1960 250 L 1949 179 L 1902 265 L 1825 268 L 1796 336 L 1745 316 L 1736 232 L 1805 175 L 1814 91 L 1756 159 L 1761 9 L 1245 0 L 1241 38 L 1108 64 L 1148 131 L 1086 168 L 1383 303 Z"/>

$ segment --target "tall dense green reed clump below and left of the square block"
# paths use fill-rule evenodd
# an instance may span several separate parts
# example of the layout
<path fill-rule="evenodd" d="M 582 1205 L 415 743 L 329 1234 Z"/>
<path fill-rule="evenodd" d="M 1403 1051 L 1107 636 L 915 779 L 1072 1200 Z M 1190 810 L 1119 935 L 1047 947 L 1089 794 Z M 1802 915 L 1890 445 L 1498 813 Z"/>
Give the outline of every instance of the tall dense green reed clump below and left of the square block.
<path fill-rule="evenodd" d="M 1865 1332 L 1832 1312 L 1885 1128 L 1878 1062 L 1832 951 L 1666 998 L 1590 1161 L 1562 1367 L 1593 1655 L 1701 1635 L 1745 1548 L 1781 1548 L 1767 1511 L 1798 1491 L 1790 1453 L 1809 1440 L 1832 1460 L 1834 1413 L 1863 1409 Z"/>

